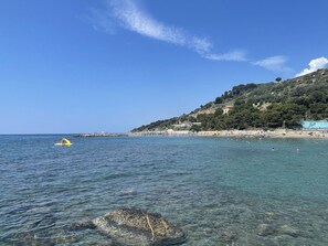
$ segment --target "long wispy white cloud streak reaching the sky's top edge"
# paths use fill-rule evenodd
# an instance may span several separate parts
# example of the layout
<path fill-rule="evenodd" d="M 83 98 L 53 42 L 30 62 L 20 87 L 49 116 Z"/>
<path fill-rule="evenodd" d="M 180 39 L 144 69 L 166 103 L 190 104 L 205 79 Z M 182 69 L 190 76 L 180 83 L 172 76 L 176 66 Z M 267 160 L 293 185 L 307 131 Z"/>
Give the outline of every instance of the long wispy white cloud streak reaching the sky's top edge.
<path fill-rule="evenodd" d="M 232 51 L 215 54 L 213 44 L 207 38 L 188 34 L 183 29 L 161 23 L 144 11 L 134 0 L 107 0 L 107 10 L 103 13 L 93 11 L 94 28 L 113 33 L 113 26 L 118 25 L 126 30 L 159 41 L 184 46 L 197 52 L 204 58 L 213 61 L 246 61 L 246 53 Z"/>

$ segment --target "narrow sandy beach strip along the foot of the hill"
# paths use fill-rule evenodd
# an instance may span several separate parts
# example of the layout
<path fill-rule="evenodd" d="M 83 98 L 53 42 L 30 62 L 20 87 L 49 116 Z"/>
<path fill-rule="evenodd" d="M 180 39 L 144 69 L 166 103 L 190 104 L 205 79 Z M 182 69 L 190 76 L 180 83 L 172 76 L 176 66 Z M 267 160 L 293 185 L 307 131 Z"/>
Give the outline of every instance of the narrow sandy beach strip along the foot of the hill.
<path fill-rule="evenodd" d="M 216 131 L 198 131 L 189 130 L 163 130 L 163 131 L 139 131 L 128 132 L 129 137 L 146 136 L 167 136 L 167 137 L 221 137 L 221 138 L 300 138 L 300 139 L 328 139 L 327 130 L 216 130 Z"/>

